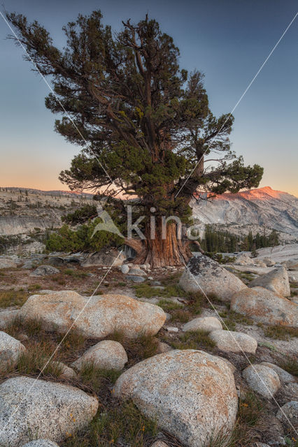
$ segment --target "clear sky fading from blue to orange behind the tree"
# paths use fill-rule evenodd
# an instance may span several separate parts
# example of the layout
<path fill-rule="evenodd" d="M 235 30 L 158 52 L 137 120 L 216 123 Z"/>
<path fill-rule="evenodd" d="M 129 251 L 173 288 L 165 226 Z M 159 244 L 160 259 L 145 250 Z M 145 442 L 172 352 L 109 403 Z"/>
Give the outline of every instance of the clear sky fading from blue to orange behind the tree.
<path fill-rule="evenodd" d="M 100 9 L 104 22 L 155 18 L 180 48 L 180 66 L 205 73 L 215 115 L 231 112 L 298 10 L 296 0 L 4 0 L 3 7 L 38 20 L 62 47 L 62 26 Z M 3 8 L 1 9 L 3 13 Z M 49 89 L 6 40 L 0 17 L 0 186 L 66 189 L 58 180 L 79 147 L 53 130 Z M 234 112 L 232 149 L 264 167 L 260 186 L 298 196 L 298 17 Z"/>

